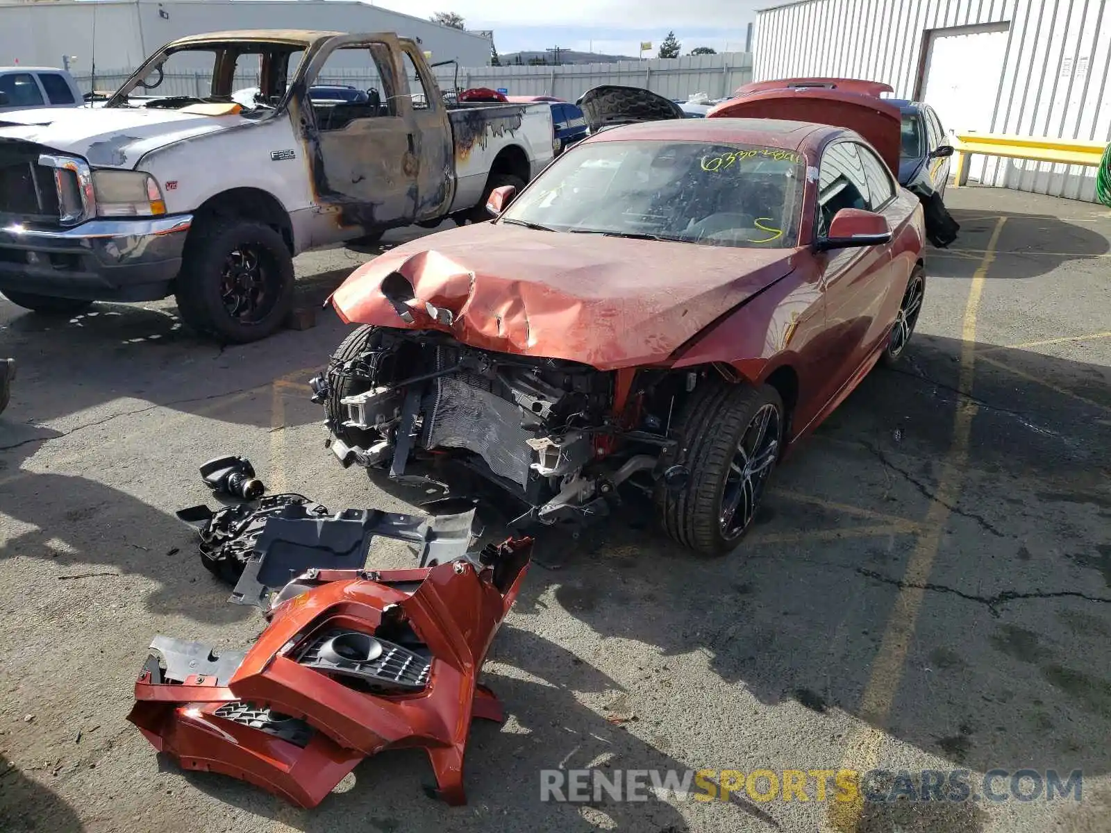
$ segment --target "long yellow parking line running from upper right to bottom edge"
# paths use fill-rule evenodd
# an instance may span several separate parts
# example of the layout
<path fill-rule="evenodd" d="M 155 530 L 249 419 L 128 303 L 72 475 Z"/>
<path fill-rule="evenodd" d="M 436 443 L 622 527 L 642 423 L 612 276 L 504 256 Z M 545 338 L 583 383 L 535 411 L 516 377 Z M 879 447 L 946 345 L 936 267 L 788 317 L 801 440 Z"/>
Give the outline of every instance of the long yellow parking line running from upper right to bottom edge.
<path fill-rule="evenodd" d="M 995 222 L 983 260 L 972 277 L 972 285 L 969 289 L 969 298 L 964 307 L 964 321 L 961 328 L 960 390 L 965 397 L 972 392 L 975 371 L 975 324 L 980 299 L 983 295 L 984 279 L 995 260 L 995 247 L 999 244 L 999 235 L 1005 222 L 1005 217 L 999 218 Z M 972 418 L 975 416 L 977 410 L 975 402 L 968 398 L 961 399 L 957 405 L 952 443 L 941 462 L 938 489 L 930 503 L 925 520 L 922 522 L 923 532 L 910 556 L 910 562 L 907 564 L 907 572 L 892 605 L 887 630 L 880 642 L 875 660 L 872 662 L 868 688 L 864 689 L 857 715 L 858 723 L 850 733 L 842 759 L 842 769 L 867 772 L 874 769 L 879 761 L 880 747 L 884 737 L 883 726 L 887 725 L 891 706 L 899 691 L 903 665 L 907 661 L 907 651 L 910 648 L 918 614 L 922 608 L 922 598 L 925 594 L 924 586 L 933 569 L 933 560 L 941 546 L 941 535 L 952 511 L 950 506 L 957 505 L 960 498 L 964 466 L 969 455 Z M 835 830 L 855 833 L 862 810 L 862 797 L 858 797 L 852 803 L 838 804 L 834 802 L 829 809 L 829 822 Z"/>

